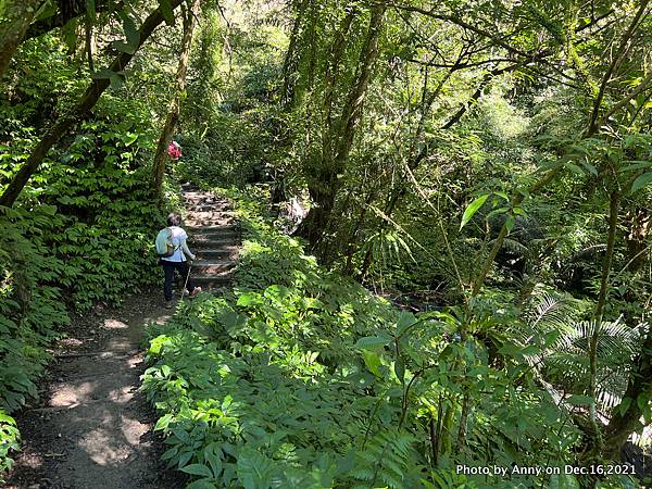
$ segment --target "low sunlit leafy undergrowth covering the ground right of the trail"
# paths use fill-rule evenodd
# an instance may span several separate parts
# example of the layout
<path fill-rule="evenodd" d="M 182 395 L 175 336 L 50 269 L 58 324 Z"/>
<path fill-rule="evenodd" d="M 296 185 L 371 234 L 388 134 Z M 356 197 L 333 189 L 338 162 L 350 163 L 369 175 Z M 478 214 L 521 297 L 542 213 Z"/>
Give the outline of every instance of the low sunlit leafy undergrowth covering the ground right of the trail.
<path fill-rule="evenodd" d="M 563 473 L 456 471 L 568 460 L 577 430 L 528 375 L 529 351 L 504 333 L 493 367 L 486 344 L 459 336 L 461 310 L 400 312 L 319 267 L 261 200 L 230 195 L 246 238 L 234 289 L 181 302 L 148 330 L 142 389 L 163 459 L 192 476 L 189 488 L 577 487 Z M 476 337 L 514 321 L 475 309 Z M 460 428 L 444 413 L 459 416 L 465 399 Z"/>

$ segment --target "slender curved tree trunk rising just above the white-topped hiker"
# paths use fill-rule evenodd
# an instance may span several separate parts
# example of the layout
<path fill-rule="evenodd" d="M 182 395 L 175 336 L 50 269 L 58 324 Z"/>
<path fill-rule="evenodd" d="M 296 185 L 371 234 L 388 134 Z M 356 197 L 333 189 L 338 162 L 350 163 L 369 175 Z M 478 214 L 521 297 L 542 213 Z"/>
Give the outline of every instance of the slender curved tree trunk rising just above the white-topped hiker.
<path fill-rule="evenodd" d="M 166 148 L 172 139 L 172 135 L 179 121 L 179 99 L 186 90 L 186 74 L 188 73 L 188 60 L 190 59 L 190 48 L 192 47 L 192 33 L 195 30 L 196 18 L 199 16 L 201 3 L 200 0 L 193 0 L 190 10 L 184 18 L 184 37 L 181 40 L 181 54 L 176 73 L 175 93 L 170 103 L 170 110 L 165 117 L 165 124 L 161 130 L 161 137 L 156 146 L 156 154 L 152 168 L 152 188 L 156 196 L 163 195 L 163 177 L 165 176 L 165 163 L 167 161 Z"/>

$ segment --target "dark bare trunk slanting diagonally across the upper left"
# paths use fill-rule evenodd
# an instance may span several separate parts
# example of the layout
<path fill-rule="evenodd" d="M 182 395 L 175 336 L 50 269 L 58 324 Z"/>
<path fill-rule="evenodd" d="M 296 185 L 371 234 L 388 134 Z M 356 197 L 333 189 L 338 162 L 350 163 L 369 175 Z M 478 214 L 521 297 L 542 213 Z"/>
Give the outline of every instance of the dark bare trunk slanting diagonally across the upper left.
<path fill-rule="evenodd" d="M 183 0 L 171 0 L 171 5 L 173 9 L 176 9 Z M 163 14 L 161 13 L 161 9 L 156 9 L 153 11 L 145 21 L 140 29 L 139 41 L 136 48 L 136 51 L 142 46 L 142 43 L 150 37 L 150 35 L 154 32 L 159 25 L 163 23 Z M 126 52 L 121 52 L 114 60 L 113 63 L 109 66 L 109 70 L 112 72 L 121 72 L 123 71 L 129 61 L 134 58 L 134 54 L 129 54 Z M 103 91 L 109 87 L 109 78 L 96 78 L 93 79 L 89 87 L 86 89 L 86 92 L 77 104 L 65 115 L 61 116 L 54 125 L 46 133 L 46 135 L 41 138 L 37 147 L 34 149 L 25 164 L 21 166 L 21 170 L 14 175 L 12 181 L 9 184 L 2 197 L 0 197 L 0 205 L 4 205 L 11 208 L 21 191 L 29 181 L 32 175 L 34 175 L 38 167 L 48 154 L 48 151 L 61 139 L 61 137 L 80 118 L 85 117 L 90 109 L 95 106 L 97 101 Z"/>

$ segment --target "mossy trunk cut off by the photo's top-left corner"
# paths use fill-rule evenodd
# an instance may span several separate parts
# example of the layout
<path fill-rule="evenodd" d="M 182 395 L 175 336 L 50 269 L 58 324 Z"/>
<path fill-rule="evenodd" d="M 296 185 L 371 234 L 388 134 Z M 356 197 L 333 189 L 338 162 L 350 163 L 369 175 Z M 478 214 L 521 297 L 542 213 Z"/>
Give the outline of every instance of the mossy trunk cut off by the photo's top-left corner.
<path fill-rule="evenodd" d="M 41 3 L 42 0 L 8 0 L 0 12 L 0 78 Z"/>

